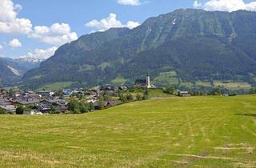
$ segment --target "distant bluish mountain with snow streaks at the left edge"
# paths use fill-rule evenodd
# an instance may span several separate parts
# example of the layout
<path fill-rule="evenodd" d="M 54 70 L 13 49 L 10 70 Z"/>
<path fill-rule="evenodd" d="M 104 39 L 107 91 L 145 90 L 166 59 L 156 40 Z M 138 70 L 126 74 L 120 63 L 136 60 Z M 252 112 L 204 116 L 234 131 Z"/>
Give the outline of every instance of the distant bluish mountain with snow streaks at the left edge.
<path fill-rule="evenodd" d="M 36 68 L 39 62 L 22 59 L 0 58 L 0 86 L 14 86 L 27 70 Z"/>

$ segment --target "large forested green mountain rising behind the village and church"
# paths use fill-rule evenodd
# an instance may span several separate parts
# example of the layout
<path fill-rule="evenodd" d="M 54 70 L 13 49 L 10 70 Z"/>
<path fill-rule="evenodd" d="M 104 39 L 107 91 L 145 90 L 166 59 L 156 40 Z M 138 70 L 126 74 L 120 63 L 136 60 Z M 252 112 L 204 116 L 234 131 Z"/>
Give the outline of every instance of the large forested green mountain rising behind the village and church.
<path fill-rule="evenodd" d="M 256 13 L 175 10 L 134 30 L 110 29 L 61 46 L 23 77 L 30 88 L 54 82 L 126 84 L 150 74 L 155 85 L 256 79 Z M 208 85 L 208 84 L 207 84 Z"/>

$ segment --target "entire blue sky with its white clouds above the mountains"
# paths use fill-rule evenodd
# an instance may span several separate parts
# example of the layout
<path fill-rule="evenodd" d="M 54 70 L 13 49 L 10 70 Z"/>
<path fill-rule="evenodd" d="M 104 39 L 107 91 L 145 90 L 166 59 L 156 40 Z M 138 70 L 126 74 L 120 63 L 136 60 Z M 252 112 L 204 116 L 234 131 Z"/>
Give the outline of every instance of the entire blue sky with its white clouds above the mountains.
<path fill-rule="evenodd" d="M 62 43 L 75 40 L 82 34 L 112 26 L 133 28 L 146 18 L 180 8 L 256 9 L 254 1 L 232 2 L 235 4 L 229 4 L 229 0 L 202 0 L 196 3 L 195 0 L 1 0 L 0 56 L 48 58 Z M 1 9 L 4 9 L 2 13 Z M 20 23 L 22 18 L 26 19 L 25 23 Z M 18 24 L 21 28 L 16 25 L 5 27 L 6 22 Z M 2 27 L 1 23 L 6 25 Z"/>

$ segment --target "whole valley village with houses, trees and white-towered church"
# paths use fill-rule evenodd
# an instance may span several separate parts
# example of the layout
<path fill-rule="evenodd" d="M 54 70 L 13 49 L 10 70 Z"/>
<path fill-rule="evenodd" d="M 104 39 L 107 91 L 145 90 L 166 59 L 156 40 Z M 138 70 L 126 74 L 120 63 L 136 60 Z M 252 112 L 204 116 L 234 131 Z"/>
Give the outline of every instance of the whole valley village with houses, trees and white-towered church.
<path fill-rule="evenodd" d="M 134 86 L 100 86 L 95 89 L 0 90 L 0 114 L 81 114 L 102 110 L 122 103 L 149 98 L 150 77 L 138 79 Z M 174 94 L 174 89 L 169 89 Z M 180 96 L 190 96 L 180 91 Z"/>

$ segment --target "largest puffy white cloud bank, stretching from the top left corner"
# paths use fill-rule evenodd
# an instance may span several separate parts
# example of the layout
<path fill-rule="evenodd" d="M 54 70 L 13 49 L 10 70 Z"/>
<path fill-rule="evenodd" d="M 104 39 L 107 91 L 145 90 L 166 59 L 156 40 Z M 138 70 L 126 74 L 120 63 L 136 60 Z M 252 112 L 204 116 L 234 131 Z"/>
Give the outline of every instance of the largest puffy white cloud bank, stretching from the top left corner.
<path fill-rule="evenodd" d="M 36 38 L 41 42 L 60 46 L 78 39 L 75 32 L 65 23 L 54 23 L 52 26 L 35 26 L 29 19 L 18 18 L 22 6 L 12 0 L 0 0 L 0 33 L 27 34 L 28 38 Z"/>

